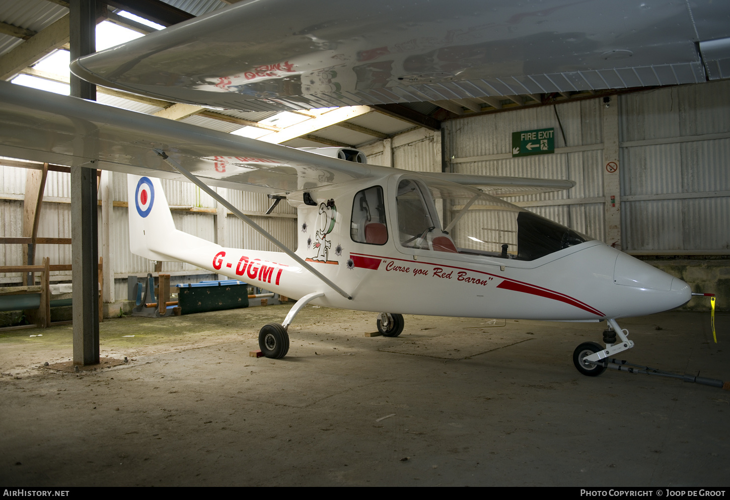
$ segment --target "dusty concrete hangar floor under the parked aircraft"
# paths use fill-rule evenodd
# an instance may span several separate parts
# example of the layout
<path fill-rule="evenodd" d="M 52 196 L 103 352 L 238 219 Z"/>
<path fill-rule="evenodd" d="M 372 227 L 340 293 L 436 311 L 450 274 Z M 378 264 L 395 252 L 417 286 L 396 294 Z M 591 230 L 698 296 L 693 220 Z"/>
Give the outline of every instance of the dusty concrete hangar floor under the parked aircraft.
<path fill-rule="evenodd" d="M 0 484 L 730 484 L 730 393 L 579 374 L 604 323 L 406 316 L 391 339 L 306 307 L 286 358 L 250 358 L 287 310 L 106 321 L 102 355 L 131 361 L 79 374 L 41 367 L 70 326 L 0 334 Z M 730 380 L 729 320 L 717 345 L 707 313 L 620 320 L 624 358 Z"/>

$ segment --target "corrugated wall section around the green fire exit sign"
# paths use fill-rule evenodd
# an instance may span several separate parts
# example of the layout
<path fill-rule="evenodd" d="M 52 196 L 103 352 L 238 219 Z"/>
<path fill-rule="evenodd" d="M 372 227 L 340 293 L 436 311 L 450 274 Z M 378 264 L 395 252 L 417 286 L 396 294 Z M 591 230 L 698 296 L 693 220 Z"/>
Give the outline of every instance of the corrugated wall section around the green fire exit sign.
<path fill-rule="evenodd" d="M 446 136 L 452 172 L 575 180 L 575 188 L 510 201 L 599 239 L 604 237 L 602 102 L 599 99 L 451 120 Z M 558 116 L 560 121 L 558 122 Z M 561 131 L 562 124 L 562 131 Z M 556 153 L 511 158 L 512 132 L 555 129 Z M 563 138 L 565 135 L 565 139 Z M 592 150 L 561 153 L 561 148 Z"/>

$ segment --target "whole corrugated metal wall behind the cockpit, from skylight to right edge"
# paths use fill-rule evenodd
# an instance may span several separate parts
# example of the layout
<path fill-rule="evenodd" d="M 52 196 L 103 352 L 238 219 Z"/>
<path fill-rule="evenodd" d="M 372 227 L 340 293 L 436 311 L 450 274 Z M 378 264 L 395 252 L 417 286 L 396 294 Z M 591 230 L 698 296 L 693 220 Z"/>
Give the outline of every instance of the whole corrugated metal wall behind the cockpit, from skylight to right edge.
<path fill-rule="evenodd" d="M 619 110 L 623 250 L 730 253 L 730 82 L 624 94 L 610 105 Z M 574 180 L 567 191 L 509 201 L 604 239 L 603 111 L 596 98 L 450 120 L 443 124 L 450 169 Z M 551 127 L 555 154 L 511 158 L 512 132 Z M 362 149 L 371 164 L 438 172 L 437 134 L 426 134 Z"/>

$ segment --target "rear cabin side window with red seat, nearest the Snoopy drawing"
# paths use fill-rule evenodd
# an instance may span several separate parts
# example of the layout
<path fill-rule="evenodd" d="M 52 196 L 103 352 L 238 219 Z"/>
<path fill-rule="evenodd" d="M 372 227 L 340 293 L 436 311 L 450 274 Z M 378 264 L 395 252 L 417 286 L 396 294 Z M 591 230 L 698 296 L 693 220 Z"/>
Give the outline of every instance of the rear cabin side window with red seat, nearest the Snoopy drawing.
<path fill-rule="evenodd" d="M 355 195 L 353 217 L 350 221 L 350 238 L 353 242 L 369 245 L 385 245 L 388 242 L 383 188 L 380 186 L 358 191 Z"/>

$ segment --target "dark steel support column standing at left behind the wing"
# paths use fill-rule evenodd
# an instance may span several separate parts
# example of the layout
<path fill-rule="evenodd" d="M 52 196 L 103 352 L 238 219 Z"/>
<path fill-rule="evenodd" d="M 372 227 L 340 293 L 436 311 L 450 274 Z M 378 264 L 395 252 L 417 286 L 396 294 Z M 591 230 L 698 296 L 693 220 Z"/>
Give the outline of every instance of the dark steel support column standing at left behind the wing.
<path fill-rule="evenodd" d="M 96 1 L 71 0 L 71 59 L 96 52 Z M 71 95 L 96 101 L 96 86 L 71 75 Z M 80 123 L 79 127 L 84 125 Z M 77 147 L 86 147 L 80 141 Z M 96 169 L 71 167 L 74 364 L 99 363 Z"/>

